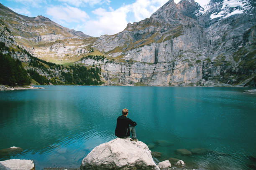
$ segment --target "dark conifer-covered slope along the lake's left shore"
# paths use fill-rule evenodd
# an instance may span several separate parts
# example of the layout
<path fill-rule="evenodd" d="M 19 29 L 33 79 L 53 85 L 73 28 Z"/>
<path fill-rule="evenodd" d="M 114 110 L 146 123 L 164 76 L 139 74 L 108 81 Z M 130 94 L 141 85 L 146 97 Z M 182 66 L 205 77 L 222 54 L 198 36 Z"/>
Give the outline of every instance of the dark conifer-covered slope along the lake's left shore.
<path fill-rule="evenodd" d="M 57 65 L 38 59 L 23 49 L 5 23 L 0 20 L 0 84 L 101 85 L 100 68 L 74 64 Z"/>

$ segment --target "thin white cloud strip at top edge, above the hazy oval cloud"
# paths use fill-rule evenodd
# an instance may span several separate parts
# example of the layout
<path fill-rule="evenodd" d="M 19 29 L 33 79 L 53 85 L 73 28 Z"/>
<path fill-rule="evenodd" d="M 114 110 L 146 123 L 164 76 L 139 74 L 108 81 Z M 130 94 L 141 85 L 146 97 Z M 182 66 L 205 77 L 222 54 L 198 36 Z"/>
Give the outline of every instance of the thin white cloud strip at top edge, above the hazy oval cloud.
<path fill-rule="evenodd" d="M 66 2 L 70 5 L 74 6 L 84 6 L 85 4 L 89 4 L 91 6 L 102 3 L 110 3 L 110 0 L 59 0 L 60 2 Z"/>

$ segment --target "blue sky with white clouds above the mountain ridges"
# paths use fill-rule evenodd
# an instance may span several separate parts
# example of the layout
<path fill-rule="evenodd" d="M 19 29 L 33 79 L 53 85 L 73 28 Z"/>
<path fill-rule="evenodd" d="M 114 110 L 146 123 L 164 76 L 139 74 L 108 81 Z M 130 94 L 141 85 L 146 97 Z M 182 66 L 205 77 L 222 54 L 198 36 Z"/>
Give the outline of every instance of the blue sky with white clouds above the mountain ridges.
<path fill-rule="evenodd" d="M 201 6 L 209 2 L 195 1 Z M 95 37 L 113 35 L 129 22 L 149 18 L 166 2 L 168 0 L 0 0 L 16 13 L 29 17 L 43 15 L 64 27 Z"/>

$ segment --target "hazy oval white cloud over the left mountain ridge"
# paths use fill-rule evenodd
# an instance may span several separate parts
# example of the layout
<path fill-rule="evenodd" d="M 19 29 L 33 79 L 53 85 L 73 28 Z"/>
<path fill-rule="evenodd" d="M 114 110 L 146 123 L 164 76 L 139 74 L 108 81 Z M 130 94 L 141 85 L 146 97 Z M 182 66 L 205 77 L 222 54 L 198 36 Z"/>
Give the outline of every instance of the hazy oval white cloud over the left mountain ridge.
<path fill-rule="evenodd" d="M 84 11 L 69 5 L 47 7 L 46 14 L 52 16 L 54 20 L 60 23 L 80 23 L 81 21 L 85 22 L 89 18 L 89 15 Z"/>

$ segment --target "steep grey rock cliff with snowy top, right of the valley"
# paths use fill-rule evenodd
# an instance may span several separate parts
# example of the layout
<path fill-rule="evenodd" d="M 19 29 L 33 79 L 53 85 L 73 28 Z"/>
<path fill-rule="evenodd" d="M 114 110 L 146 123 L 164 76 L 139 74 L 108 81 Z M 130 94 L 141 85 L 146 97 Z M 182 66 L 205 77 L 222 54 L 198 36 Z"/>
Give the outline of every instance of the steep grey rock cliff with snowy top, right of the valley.
<path fill-rule="evenodd" d="M 207 9 L 170 0 L 92 47 L 114 58 L 102 64 L 110 85 L 253 86 L 255 7 L 251 0 L 212 0 Z"/>

